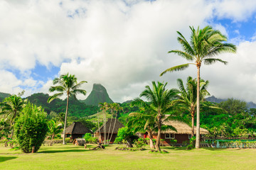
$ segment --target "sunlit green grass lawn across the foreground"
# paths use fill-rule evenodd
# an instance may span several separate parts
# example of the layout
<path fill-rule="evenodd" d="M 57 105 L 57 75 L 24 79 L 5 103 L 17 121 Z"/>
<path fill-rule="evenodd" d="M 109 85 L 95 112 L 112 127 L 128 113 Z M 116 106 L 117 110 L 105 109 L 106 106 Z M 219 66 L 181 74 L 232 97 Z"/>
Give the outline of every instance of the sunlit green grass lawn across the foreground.
<path fill-rule="evenodd" d="M 169 153 L 89 150 L 74 145 L 42 146 L 38 153 L 0 147 L 0 169 L 256 169 L 256 149 L 161 147 Z M 95 147 L 90 145 L 89 147 Z"/>

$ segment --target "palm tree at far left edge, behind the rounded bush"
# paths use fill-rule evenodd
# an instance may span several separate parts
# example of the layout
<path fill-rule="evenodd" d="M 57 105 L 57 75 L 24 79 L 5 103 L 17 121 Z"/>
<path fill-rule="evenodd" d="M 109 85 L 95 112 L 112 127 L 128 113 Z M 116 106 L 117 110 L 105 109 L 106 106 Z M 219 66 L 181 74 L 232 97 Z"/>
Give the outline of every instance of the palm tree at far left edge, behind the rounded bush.
<path fill-rule="evenodd" d="M 6 117 L 9 118 L 11 124 L 11 139 L 14 135 L 14 124 L 15 120 L 18 117 L 19 113 L 25 106 L 26 101 L 23 101 L 20 96 L 12 95 L 4 99 L 3 103 L 0 103 L 2 107 L 2 113 L 6 114 Z"/>

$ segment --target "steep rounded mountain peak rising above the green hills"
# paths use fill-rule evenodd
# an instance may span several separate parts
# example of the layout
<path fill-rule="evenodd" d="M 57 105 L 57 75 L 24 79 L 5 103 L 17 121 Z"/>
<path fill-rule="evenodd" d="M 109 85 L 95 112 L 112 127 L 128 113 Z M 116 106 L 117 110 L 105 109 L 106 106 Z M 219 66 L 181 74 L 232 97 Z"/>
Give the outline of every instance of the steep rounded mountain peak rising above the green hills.
<path fill-rule="evenodd" d="M 81 102 L 86 105 L 98 106 L 99 103 L 114 103 L 110 96 L 107 94 L 107 90 L 101 84 L 93 84 L 92 92 L 85 99 L 81 100 Z"/>

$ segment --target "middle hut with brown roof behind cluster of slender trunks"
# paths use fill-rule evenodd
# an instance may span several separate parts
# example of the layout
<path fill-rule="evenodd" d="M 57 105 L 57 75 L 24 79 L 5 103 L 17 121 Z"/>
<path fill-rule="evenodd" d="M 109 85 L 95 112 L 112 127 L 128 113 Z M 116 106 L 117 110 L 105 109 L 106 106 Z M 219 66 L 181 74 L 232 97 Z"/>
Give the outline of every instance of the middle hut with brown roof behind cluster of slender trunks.
<path fill-rule="evenodd" d="M 119 122 L 116 118 L 109 118 L 107 119 L 107 123 L 105 125 L 102 125 L 99 129 L 95 132 L 95 137 L 99 139 L 99 142 L 103 142 L 104 139 L 104 129 L 106 130 L 105 137 L 107 140 L 110 140 L 110 143 L 112 144 L 117 137 L 117 132 L 119 128 L 123 128 L 124 125 Z M 111 136 L 112 135 L 112 136 Z"/>

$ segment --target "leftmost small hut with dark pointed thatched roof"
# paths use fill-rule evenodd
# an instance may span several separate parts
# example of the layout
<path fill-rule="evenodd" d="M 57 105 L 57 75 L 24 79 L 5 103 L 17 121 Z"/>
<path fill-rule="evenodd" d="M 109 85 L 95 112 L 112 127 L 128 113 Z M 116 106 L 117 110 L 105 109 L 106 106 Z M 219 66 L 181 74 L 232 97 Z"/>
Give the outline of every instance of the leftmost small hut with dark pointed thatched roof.
<path fill-rule="evenodd" d="M 93 134 L 91 130 L 82 125 L 80 122 L 73 122 L 68 128 L 65 130 L 66 137 L 70 137 L 70 139 L 75 140 L 76 138 L 82 138 L 85 136 L 85 133 Z"/>

